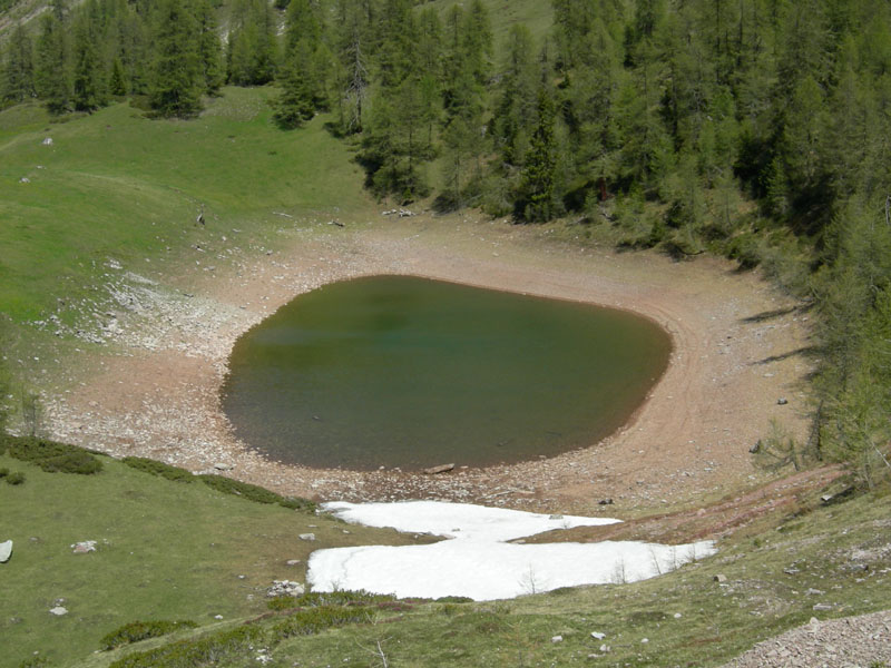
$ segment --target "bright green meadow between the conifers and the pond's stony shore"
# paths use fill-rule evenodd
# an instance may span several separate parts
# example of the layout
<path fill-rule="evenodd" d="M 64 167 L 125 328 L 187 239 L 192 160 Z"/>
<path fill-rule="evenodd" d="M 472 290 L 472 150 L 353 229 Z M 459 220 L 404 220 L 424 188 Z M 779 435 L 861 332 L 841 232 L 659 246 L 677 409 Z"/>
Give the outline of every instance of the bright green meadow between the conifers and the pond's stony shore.
<path fill-rule="evenodd" d="M 56 125 L 36 106 L 0 112 L 0 311 L 46 317 L 57 297 L 90 294 L 110 257 L 169 276 L 195 243 L 212 250 L 232 228 L 285 220 L 272 212 L 366 205 L 344 145 L 322 119 L 278 130 L 273 95 L 226 89 L 193 121 L 147 120 L 126 104 Z"/>

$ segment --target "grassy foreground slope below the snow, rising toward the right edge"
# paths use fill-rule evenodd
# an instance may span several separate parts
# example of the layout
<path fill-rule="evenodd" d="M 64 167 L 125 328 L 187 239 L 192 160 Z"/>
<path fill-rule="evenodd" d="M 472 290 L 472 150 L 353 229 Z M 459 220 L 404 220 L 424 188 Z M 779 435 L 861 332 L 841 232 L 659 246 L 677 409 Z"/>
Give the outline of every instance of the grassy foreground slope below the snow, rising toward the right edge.
<path fill-rule="evenodd" d="M 376 611 L 366 623 L 283 641 L 271 665 L 380 666 L 380 641 L 390 666 L 581 666 L 591 664 L 589 655 L 601 655 L 603 644 L 610 651 L 597 665 L 718 666 L 812 616 L 887 607 L 890 510 L 891 497 L 817 508 L 725 542 L 713 559 L 635 584 Z M 784 572 L 792 567 L 799 572 Z M 718 573 L 725 583 L 714 580 Z M 811 588 L 822 593 L 807 593 Z M 814 611 L 815 603 L 833 609 Z M 562 641 L 552 642 L 557 635 Z M 81 665 L 98 668 L 109 660 L 97 656 Z M 254 660 L 243 651 L 219 665 Z"/>

